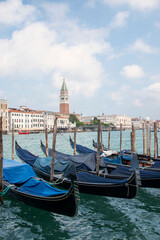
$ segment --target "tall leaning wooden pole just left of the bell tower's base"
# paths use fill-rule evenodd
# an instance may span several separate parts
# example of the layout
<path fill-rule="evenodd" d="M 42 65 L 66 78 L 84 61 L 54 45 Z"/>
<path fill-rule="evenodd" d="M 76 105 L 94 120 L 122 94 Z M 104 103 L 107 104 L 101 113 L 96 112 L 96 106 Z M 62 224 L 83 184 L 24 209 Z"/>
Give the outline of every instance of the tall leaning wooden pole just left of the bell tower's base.
<path fill-rule="evenodd" d="M 54 175 L 56 133 L 57 133 L 57 118 L 55 118 L 55 120 L 54 120 L 53 147 L 52 147 L 51 174 L 50 174 L 50 182 L 51 183 L 53 183 L 53 175 Z"/>

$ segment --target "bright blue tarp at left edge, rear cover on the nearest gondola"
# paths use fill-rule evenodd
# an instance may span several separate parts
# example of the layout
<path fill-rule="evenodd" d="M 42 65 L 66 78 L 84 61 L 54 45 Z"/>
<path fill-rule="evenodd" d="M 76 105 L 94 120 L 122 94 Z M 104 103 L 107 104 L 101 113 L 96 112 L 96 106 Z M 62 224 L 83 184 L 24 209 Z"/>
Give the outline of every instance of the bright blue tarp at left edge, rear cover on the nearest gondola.
<path fill-rule="evenodd" d="M 11 184 L 23 183 L 37 175 L 28 164 L 3 159 L 3 180 Z"/>

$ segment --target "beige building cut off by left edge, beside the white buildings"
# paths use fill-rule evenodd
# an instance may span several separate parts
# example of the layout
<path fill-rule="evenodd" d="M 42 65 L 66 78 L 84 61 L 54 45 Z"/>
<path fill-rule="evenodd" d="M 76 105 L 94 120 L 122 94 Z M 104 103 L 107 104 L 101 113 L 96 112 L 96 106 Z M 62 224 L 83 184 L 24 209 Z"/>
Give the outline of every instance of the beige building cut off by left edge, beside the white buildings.
<path fill-rule="evenodd" d="M 8 132 L 8 101 L 0 99 L 0 116 L 2 117 L 2 131 Z"/>

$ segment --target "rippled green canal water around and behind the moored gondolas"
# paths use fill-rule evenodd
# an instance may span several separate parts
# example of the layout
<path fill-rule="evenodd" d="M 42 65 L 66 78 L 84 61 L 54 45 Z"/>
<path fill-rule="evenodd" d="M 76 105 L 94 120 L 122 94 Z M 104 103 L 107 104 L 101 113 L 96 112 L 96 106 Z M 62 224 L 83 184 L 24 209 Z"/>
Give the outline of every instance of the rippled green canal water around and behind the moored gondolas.
<path fill-rule="evenodd" d="M 153 133 L 152 133 L 153 134 Z M 158 133 L 159 134 L 159 133 Z M 57 134 L 56 150 L 73 154 L 69 144 L 73 133 Z M 4 157 L 11 159 L 11 135 L 3 136 Z M 49 134 L 49 147 L 53 135 Z M 96 132 L 77 133 L 77 143 L 92 147 Z M 103 133 L 107 145 L 108 132 Z M 21 147 L 44 156 L 40 140 L 44 134 L 15 135 Z M 119 131 L 111 132 L 111 149 L 119 151 Z M 153 147 L 152 135 L 152 149 Z M 123 131 L 123 148 L 130 148 L 130 131 Z M 136 131 L 136 151 L 143 151 L 142 131 Z M 153 154 L 153 151 L 152 151 Z M 18 157 L 15 155 L 15 160 Z M 42 211 L 8 195 L 0 206 L 0 240 L 159 240 L 160 239 L 160 189 L 140 188 L 134 199 L 120 199 L 80 194 L 78 215 L 74 218 Z"/>

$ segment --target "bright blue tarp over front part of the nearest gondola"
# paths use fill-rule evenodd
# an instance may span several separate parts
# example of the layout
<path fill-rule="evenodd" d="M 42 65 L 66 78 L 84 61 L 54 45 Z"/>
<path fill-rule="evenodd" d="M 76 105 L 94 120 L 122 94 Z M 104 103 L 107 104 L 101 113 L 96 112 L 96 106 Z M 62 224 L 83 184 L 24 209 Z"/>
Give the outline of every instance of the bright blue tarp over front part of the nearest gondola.
<path fill-rule="evenodd" d="M 18 191 L 43 197 L 50 197 L 67 193 L 67 191 L 65 190 L 53 188 L 48 183 L 44 181 L 38 181 L 33 178 L 31 178 L 28 182 L 19 187 Z"/>

